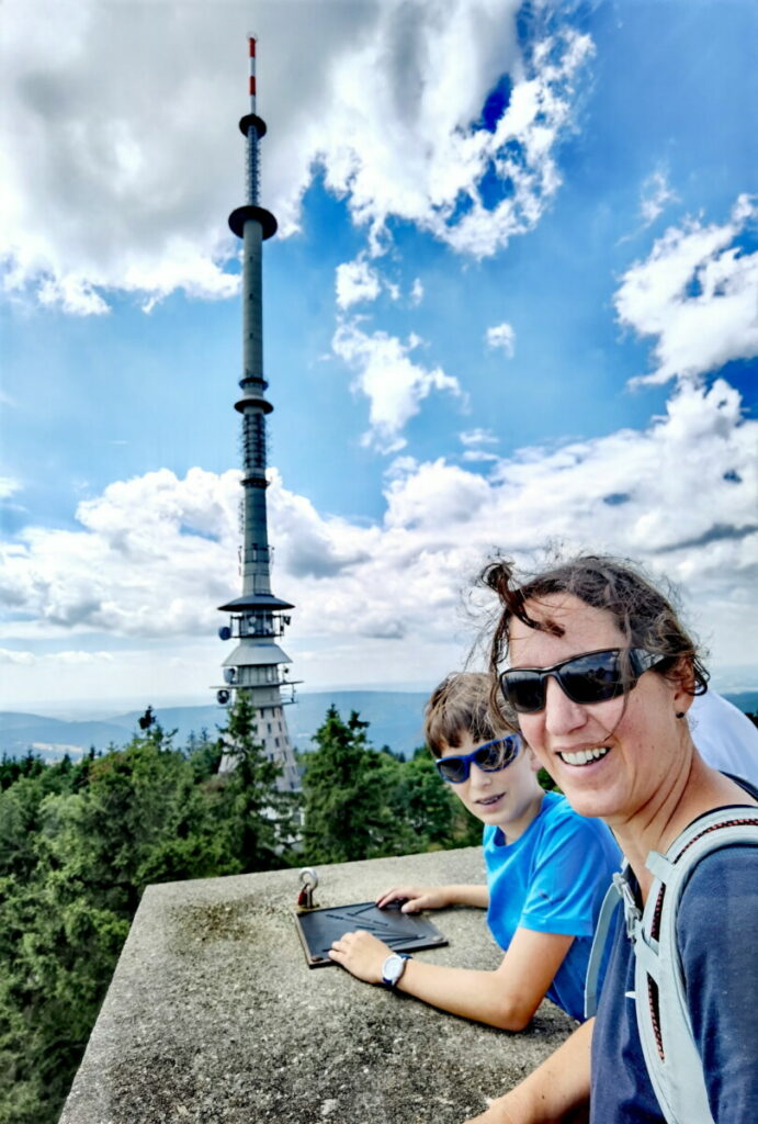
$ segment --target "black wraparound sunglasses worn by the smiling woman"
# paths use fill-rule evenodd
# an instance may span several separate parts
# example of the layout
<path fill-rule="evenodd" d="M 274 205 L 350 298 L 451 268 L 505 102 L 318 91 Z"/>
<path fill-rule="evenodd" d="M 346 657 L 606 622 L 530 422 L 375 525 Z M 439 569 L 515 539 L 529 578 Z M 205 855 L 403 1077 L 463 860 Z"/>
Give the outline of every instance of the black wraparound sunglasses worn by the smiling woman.
<path fill-rule="evenodd" d="M 629 656 L 627 669 L 621 667 L 621 654 Z M 511 668 L 500 676 L 500 688 L 505 699 L 519 714 L 537 714 L 545 709 L 545 689 L 550 676 L 558 681 L 572 703 L 587 705 L 625 695 L 640 676 L 669 656 L 648 652 L 643 647 L 629 650 L 612 647 L 602 652 L 585 652 L 552 668 Z"/>

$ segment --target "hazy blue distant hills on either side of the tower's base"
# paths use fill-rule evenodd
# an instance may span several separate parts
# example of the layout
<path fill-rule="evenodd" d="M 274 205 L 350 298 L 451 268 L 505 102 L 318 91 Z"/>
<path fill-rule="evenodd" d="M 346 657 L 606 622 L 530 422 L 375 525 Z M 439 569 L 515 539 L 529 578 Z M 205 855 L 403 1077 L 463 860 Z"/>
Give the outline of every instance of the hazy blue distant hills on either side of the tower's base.
<path fill-rule="evenodd" d="M 286 717 L 293 743 L 301 750 L 311 747 L 310 741 L 323 722 L 328 707 L 334 703 L 344 718 L 357 710 L 369 723 L 368 738 L 381 749 L 389 745 L 395 752 L 410 756 L 423 743 L 421 733 L 422 692 L 407 691 L 319 691 L 299 695 L 294 706 L 287 706 Z M 176 744 L 183 745 L 191 733 L 204 728 L 213 736 L 225 724 L 225 710 L 219 706 L 155 707 L 155 715 L 164 729 L 176 731 Z M 34 749 L 47 761 L 57 761 L 64 753 L 79 756 L 90 746 L 106 750 L 122 745 L 138 731 L 137 720 L 143 710 L 131 710 L 92 722 L 66 722 L 36 714 L 0 713 L 0 753 L 21 756 Z"/>

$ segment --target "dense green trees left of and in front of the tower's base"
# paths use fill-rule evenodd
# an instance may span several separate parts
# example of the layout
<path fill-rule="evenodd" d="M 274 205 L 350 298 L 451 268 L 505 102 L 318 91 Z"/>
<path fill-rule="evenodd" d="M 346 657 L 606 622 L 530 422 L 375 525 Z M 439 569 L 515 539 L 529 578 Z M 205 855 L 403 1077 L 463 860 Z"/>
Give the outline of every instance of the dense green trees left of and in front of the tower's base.
<path fill-rule="evenodd" d="M 285 863 L 293 797 L 252 718 L 240 699 L 185 752 L 156 725 L 76 764 L 0 762 L 0 1124 L 57 1120 L 145 886 Z"/>

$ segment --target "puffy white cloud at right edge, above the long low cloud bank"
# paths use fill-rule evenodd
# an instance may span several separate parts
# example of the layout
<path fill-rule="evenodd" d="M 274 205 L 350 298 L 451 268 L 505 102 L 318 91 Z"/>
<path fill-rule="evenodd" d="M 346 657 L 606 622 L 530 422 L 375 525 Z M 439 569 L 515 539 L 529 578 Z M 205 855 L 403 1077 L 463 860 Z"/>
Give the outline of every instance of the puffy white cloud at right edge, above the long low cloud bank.
<path fill-rule="evenodd" d="M 758 253 L 740 247 L 757 217 L 756 203 L 740 196 L 727 223 L 670 227 L 623 275 L 619 321 L 656 338 L 656 369 L 634 383 L 693 379 L 758 355 Z"/>

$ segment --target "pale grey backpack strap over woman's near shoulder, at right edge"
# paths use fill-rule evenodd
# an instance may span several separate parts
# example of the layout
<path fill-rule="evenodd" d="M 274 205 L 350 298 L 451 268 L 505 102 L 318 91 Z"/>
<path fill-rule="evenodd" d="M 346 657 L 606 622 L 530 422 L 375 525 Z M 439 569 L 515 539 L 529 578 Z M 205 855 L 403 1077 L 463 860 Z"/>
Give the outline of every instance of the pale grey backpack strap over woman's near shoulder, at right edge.
<path fill-rule="evenodd" d="M 694 867 L 732 844 L 758 845 L 758 808 L 721 808 L 691 824 L 666 855 L 651 851 L 655 881 L 634 933 L 637 1025 L 648 1075 L 669 1124 L 713 1124 L 676 940 L 676 917 Z"/>

